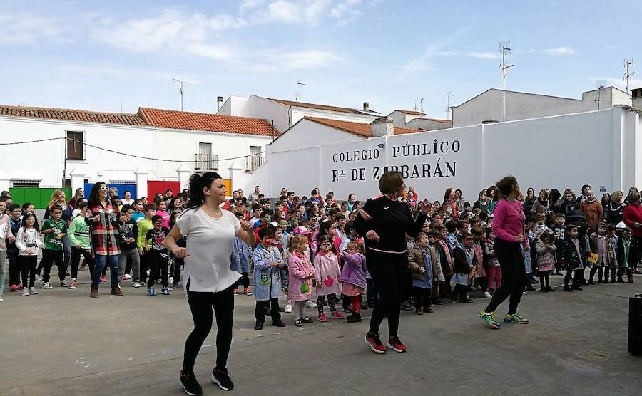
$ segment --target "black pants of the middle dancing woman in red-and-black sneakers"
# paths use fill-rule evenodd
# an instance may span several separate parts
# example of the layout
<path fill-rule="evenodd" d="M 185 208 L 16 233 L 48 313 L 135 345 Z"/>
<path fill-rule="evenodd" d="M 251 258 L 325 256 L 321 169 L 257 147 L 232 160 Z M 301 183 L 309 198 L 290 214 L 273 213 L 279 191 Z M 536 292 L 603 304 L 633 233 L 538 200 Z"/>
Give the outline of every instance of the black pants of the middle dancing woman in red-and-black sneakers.
<path fill-rule="evenodd" d="M 383 318 L 388 318 L 388 336 L 394 337 L 399 330 L 400 306 L 408 295 L 408 256 L 407 254 L 386 254 L 367 251 L 367 266 L 379 298 L 374 301 L 370 330 L 372 335 L 379 334 Z"/>

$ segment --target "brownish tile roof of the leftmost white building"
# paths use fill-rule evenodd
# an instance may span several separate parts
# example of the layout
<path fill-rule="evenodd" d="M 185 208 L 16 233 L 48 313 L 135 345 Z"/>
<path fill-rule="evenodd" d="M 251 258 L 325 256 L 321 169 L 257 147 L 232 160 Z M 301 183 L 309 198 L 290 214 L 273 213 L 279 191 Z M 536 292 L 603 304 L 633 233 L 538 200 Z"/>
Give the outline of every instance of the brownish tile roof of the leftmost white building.
<path fill-rule="evenodd" d="M 86 123 L 145 125 L 138 114 L 101 113 L 87 110 L 33 108 L 26 106 L 0 105 L 0 115 L 16 117 L 46 118 L 48 120 L 82 121 Z"/>

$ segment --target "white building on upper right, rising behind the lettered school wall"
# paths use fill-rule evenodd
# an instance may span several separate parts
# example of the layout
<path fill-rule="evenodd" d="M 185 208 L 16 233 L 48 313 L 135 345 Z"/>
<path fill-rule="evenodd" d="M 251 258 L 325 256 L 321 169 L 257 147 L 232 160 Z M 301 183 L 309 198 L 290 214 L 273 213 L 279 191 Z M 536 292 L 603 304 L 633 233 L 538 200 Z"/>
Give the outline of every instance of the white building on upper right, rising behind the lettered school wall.
<path fill-rule="evenodd" d="M 504 110 L 505 103 L 505 110 Z M 589 90 L 581 99 L 491 88 L 452 108 L 452 126 L 526 120 L 631 105 L 631 95 L 614 87 Z M 505 114 L 504 114 L 505 111 Z"/>

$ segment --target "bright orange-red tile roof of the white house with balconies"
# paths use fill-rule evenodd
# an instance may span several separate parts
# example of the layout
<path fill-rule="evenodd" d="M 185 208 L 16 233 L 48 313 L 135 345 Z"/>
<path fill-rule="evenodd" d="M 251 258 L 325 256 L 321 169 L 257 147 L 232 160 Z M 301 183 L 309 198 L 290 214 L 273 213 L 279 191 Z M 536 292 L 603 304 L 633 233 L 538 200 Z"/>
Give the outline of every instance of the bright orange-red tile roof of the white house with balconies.
<path fill-rule="evenodd" d="M 138 108 L 138 114 L 154 127 L 238 133 L 240 135 L 278 136 L 280 132 L 263 118 L 235 117 L 210 113 Z"/>

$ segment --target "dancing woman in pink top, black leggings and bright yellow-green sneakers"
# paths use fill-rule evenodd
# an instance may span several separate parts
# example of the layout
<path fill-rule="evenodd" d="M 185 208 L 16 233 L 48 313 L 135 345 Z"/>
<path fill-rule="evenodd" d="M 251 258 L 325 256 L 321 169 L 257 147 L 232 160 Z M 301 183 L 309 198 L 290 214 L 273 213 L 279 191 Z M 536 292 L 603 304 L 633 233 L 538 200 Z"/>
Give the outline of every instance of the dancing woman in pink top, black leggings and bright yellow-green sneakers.
<path fill-rule="evenodd" d="M 501 287 L 497 289 L 492 300 L 479 313 L 479 317 L 490 325 L 499 328 L 495 310 L 510 296 L 508 313 L 504 317 L 506 323 L 529 323 L 517 313 L 521 293 L 526 286 L 526 269 L 524 268 L 524 251 L 529 250 L 524 236 L 524 208 L 516 200 L 519 184 L 514 176 L 506 176 L 497 182 L 497 189 L 504 199 L 495 206 L 493 212 L 493 233 L 495 234 L 494 249 L 501 266 Z"/>

